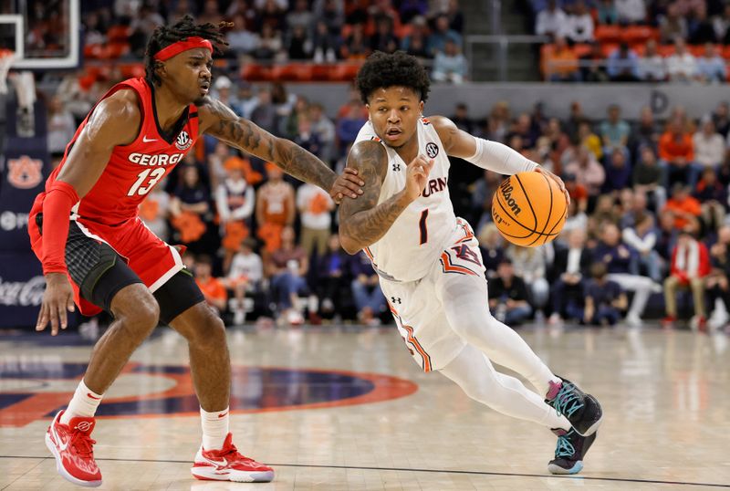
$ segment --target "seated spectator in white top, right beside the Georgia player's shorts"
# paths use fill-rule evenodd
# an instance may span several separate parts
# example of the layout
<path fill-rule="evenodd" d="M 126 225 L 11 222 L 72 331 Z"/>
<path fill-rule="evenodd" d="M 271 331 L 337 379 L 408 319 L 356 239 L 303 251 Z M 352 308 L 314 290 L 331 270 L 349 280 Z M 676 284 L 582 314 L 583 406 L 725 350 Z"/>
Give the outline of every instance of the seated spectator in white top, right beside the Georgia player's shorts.
<path fill-rule="evenodd" d="M 264 266 L 261 257 L 254 252 L 255 245 L 255 240 L 251 237 L 241 242 L 225 278 L 226 285 L 235 293 L 235 302 L 231 301 L 235 325 L 244 323 L 246 293 L 253 294 L 258 291 L 261 280 L 264 279 Z"/>

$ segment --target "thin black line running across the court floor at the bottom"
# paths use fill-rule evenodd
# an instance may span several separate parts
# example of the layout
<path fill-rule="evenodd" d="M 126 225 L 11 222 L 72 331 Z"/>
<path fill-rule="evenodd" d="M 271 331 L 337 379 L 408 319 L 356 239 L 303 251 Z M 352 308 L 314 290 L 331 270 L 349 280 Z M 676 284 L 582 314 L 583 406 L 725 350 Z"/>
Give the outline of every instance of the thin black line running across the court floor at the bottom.
<path fill-rule="evenodd" d="M 52 459 L 52 456 L 36 457 L 31 455 L 0 455 L 0 458 L 17 458 L 17 459 Z M 121 458 L 98 458 L 100 462 L 151 462 L 161 464 L 190 464 L 189 460 L 153 460 L 153 459 L 121 459 Z M 38 463 L 40 464 L 40 463 Z M 550 477 L 553 479 L 575 479 L 582 481 L 610 481 L 620 483 L 641 483 L 641 484 L 656 484 L 656 485 L 670 485 L 670 486 L 708 486 L 708 487 L 723 487 L 730 488 L 730 485 L 721 485 L 714 483 L 687 483 L 683 481 L 659 481 L 654 479 L 631 479 L 621 477 L 596 477 L 590 475 L 552 475 L 552 474 L 519 474 L 509 472 L 489 472 L 489 471 L 464 471 L 458 469 L 408 469 L 405 467 L 370 467 L 370 466 L 358 466 L 358 465 L 306 465 L 306 464 L 275 464 L 266 463 L 273 467 L 311 467 L 317 469 L 353 469 L 353 470 L 364 470 L 364 471 L 393 471 L 393 472 L 417 472 L 417 473 L 443 473 L 443 474 L 464 474 L 464 475 L 501 475 L 501 476 L 513 476 L 513 477 L 538 477 L 545 478 Z M 35 467 L 34 467 L 35 468 Z M 14 481 L 15 482 L 15 481 Z M 12 483 L 11 483 L 12 484 Z M 10 486 L 10 485 L 8 485 Z"/>

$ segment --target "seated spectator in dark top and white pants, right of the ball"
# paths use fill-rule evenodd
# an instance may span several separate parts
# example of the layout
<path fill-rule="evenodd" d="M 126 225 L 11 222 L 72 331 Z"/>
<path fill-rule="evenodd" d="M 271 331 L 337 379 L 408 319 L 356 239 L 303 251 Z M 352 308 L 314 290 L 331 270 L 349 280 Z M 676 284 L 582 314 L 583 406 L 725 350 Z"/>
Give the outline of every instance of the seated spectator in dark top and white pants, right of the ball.
<path fill-rule="evenodd" d="M 611 281 L 618 283 L 624 290 L 634 292 L 626 322 L 630 326 L 641 326 L 641 315 L 652 290 L 661 291 L 661 287 L 657 288 L 658 285 L 651 278 L 638 275 L 636 253 L 621 242 L 618 226 L 604 222 L 600 228 L 600 243 L 593 249 L 593 259 L 606 266 Z"/>

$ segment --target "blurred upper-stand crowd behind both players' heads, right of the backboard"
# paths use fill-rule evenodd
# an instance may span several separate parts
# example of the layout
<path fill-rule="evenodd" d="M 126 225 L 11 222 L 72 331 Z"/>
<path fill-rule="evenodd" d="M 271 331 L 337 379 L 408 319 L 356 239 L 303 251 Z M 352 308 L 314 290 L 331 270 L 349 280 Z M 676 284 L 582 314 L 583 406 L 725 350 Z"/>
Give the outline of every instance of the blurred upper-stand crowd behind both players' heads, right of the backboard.
<path fill-rule="evenodd" d="M 461 82 L 464 14 L 458 0 L 95 0 L 82 3 L 87 57 L 141 59 L 156 26 L 185 14 L 232 24 L 225 58 L 235 65 L 362 60 L 402 49 Z"/>

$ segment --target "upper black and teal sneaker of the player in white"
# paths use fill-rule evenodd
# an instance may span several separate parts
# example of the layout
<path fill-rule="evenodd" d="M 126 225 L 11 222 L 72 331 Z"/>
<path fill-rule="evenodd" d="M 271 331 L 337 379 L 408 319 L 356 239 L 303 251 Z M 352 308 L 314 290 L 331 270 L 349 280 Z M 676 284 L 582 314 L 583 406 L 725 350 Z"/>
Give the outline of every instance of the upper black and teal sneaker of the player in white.
<path fill-rule="evenodd" d="M 566 379 L 560 383 L 550 382 L 545 402 L 555 408 L 558 416 L 565 415 L 576 431 L 588 436 L 598 431 L 603 420 L 603 410 L 598 400 L 581 391 L 578 386 Z"/>

